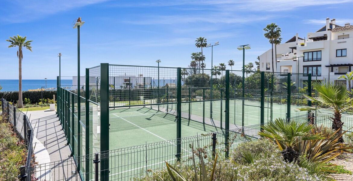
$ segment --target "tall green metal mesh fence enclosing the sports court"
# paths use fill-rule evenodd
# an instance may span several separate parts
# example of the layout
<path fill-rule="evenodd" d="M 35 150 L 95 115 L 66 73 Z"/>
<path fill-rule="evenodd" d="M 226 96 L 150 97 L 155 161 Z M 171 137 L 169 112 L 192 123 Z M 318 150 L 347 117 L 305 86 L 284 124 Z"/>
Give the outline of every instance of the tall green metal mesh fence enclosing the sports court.
<path fill-rule="evenodd" d="M 126 147 L 113 144 L 126 139 L 119 134 L 119 130 L 126 131 L 129 127 L 124 127 L 124 123 L 145 131 L 147 127 L 159 125 L 157 136 L 165 134 L 162 126 L 175 125 L 168 133 L 174 134 L 175 139 L 175 143 L 172 141 L 175 148 L 170 148 L 170 154 L 183 160 L 185 122 L 203 125 L 199 128 L 205 130 L 203 134 L 221 131 L 223 146 L 229 147 L 235 133 L 250 137 L 249 126 L 257 125 L 259 129 L 259 125 L 279 117 L 307 119 L 307 113 L 294 112 L 294 109 L 309 105 L 303 101 L 303 95 L 311 90 L 308 88 L 311 85 L 305 83 L 310 78 L 311 75 L 293 73 L 101 64 L 86 69 L 86 81 L 78 86 L 80 97 L 77 89 L 62 88 L 58 83 L 58 115 L 81 179 L 92 179 L 89 173 L 96 169 L 96 164 L 82 159 L 89 160 L 92 154 L 100 152 L 100 179 L 112 180 L 109 172 L 112 165 L 118 166 L 116 161 L 112 162 L 109 150 Z M 125 110 L 133 110 L 130 114 L 136 115 L 119 116 Z M 141 119 L 138 116 L 148 114 L 159 116 L 158 121 L 169 119 L 170 122 L 153 122 L 143 117 L 143 123 L 137 123 Z M 212 131 L 207 131 L 205 126 Z M 228 154 L 226 149 L 225 155 Z"/>

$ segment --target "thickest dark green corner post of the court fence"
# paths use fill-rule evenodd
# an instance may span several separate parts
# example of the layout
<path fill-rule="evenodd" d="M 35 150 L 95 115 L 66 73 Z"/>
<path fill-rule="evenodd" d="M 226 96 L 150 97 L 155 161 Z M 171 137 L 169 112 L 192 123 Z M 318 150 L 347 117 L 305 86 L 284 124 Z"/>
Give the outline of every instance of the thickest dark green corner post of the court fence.
<path fill-rule="evenodd" d="M 130 78 L 129 78 L 130 80 Z M 129 84 L 131 88 L 131 81 Z M 109 64 L 101 64 L 101 180 L 109 180 Z M 129 99 L 130 102 L 130 99 Z"/>

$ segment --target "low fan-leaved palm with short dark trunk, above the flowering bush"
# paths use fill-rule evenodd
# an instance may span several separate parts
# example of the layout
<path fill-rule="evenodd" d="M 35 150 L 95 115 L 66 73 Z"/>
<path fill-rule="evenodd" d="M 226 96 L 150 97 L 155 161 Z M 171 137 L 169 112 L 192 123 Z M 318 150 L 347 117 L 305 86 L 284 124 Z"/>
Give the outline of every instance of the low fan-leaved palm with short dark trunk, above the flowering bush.
<path fill-rule="evenodd" d="M 281 150 L 282 156 L 286 162 L 298 161 L 300 153 L 294 150 L 294 146 L 302 140 L 324 139 L 321 134 L 308 134 L 315 128 L 315 125 L 307 123 L 288 122 L 285 119 L 275 119 L 261 126 L 263 132 L 258 134 L 273 140 Z"/>

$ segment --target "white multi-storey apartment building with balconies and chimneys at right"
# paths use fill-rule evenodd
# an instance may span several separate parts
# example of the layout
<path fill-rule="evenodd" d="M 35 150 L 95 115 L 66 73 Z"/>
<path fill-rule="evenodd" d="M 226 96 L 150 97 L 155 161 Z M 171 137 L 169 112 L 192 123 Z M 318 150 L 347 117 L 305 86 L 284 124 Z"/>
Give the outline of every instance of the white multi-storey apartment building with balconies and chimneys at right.
<path fill-rule="evenodd" d="M 336 24 L 326 19 L 326 25 L 316 32 L 307 33 L 306 38 L 293 36 L 274 48 L 274 65 L 271 49 L 260 55 L 260 71 L 283 73 L 311 73 L 312 76 L 337 79 L 351 72 L 353 66 L 353 25 Z M 322 78 L 320 78 L 322 77 Z"/>

